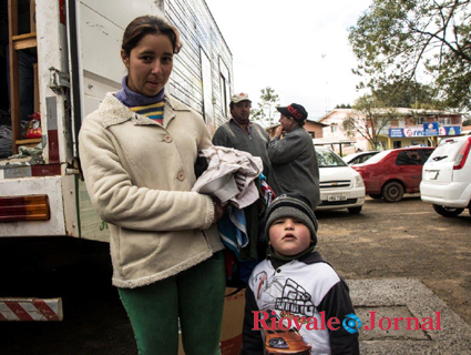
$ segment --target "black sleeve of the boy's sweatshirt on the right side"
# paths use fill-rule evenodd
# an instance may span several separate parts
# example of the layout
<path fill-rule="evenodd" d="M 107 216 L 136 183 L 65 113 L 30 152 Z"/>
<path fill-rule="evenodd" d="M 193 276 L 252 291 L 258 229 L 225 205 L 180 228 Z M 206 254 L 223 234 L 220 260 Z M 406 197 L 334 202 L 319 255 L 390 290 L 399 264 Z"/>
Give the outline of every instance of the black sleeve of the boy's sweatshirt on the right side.
<path fill-rule="evenodd" d="M 345 316 L 350 313 L 355 314 L 348 286 L 342 277 L 340 277 L 340 281 L 336 283 L 324 296 L 317 310 L 319 312 L 326 312 L 326 320 L 336 317 L 340 321 L 339 328 L 337 331 L 329 329 L 331 354 L 360 354 L 358 333 L 350 334 L 342 326 Z"/>

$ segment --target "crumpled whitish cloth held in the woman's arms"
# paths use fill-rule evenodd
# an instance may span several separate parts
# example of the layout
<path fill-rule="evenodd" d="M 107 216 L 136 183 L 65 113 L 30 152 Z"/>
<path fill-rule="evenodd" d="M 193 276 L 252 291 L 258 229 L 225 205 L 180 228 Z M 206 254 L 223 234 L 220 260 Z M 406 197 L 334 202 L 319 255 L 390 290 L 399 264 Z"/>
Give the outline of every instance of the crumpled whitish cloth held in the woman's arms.
<path fill-rule="evenodd" d="M 221 196 L 222 202 L 231 202 L 238 209 L 244 209 L 258 200 L 258 189 L 254 180 L 258 178 L 264 166 L 259 156 L 219 145 L 205 148 L 198 155 L 206 158 L 208 168 L 196 180 L 192 191 Z M 235 175 L 245 176 L 245 181 L 237 176 L 239 186 L 236 184 Z"/>

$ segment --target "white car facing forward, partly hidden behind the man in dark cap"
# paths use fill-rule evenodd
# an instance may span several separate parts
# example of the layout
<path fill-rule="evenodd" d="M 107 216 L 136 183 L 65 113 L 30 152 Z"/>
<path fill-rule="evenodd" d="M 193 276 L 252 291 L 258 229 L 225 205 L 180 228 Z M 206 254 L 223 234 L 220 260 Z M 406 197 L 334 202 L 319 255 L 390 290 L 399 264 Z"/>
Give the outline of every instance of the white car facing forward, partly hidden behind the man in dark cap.
<path fill-rule="evenodd" d="M 319 210 L 348 209 L 351 214 L 361 212 L 365 203 L 365 183 L 361 175 L 329 149 L 316 146 L 319 163 Z"/>

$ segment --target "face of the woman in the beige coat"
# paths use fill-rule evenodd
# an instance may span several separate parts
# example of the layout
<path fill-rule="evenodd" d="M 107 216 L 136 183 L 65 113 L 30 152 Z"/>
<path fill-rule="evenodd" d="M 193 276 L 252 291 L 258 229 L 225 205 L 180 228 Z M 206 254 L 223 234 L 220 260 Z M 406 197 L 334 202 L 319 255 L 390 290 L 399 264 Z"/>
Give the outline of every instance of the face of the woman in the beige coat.
<path fill-rule="evenodd" d="M 164 34 L 146 34 L 131 50 L 127 58 L 121 50 L 127 68 L 127 87 L 146 97 L 156 95 L 167 83 L 173 69 L 173 45 Z"/>

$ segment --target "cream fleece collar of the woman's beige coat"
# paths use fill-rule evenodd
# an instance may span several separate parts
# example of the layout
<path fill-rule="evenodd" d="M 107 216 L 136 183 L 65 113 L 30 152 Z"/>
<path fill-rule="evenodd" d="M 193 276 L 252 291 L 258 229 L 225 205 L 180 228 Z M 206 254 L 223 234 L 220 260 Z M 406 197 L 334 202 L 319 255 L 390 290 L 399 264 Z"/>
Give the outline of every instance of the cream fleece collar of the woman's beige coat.
<path fill-rule="evenodd" d="M 190 111 L 185 104 L 176 101 L 167 94 L 164 97 L 164 128 L 166 128 L 168 123 L 175 118 L 177 111 Z M 103 102 L 100 104 L 99 112 L 103 120 L 104 128 L 120 124 L 130 120 L 135 125 L 158 125 L 157 122 L 154 122 L 153 120 L 150 120 L 142 114 L 132 112 L 126 105 L 116 99 L 114 92 L 109 92 L 106 94 L 106 97 L 103 99 Z"/>

